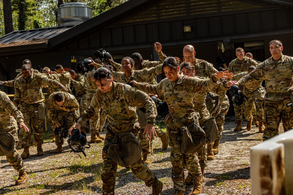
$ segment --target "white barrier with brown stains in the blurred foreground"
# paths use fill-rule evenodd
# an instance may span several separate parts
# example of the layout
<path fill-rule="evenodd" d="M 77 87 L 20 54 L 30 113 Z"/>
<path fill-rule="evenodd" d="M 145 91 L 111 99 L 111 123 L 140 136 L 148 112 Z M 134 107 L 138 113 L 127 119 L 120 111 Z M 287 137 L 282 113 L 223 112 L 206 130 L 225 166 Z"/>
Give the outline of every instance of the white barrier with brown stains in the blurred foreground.
<path fill-rule="evenodd" d="M 251 194 L 293 195 L 293 129 L 250 149 Z"/>

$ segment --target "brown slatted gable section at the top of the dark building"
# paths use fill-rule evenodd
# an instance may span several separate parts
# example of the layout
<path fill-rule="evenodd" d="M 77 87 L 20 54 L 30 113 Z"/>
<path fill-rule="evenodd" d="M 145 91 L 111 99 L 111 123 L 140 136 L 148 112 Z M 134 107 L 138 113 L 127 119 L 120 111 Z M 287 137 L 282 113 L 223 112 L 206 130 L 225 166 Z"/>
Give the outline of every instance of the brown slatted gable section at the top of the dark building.
<path fill-rule="evenodd" d="M 233 0 L 166 0 L 157 6 L 151 7 L 134 17 L 128 18 L 121 23 L 150 21 L 157 19 L 195 16 L 212 13 L 224 13 L 231 11 L 245 11 L 262 8 L 258 4 L 252 4 Z"/>

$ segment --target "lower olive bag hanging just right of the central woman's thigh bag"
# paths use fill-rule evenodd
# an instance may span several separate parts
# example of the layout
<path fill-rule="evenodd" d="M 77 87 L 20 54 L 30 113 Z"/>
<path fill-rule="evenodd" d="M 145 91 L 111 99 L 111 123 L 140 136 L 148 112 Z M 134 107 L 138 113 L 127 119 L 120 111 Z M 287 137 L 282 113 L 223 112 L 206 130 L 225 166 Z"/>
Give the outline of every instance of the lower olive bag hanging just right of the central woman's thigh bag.
<path fill-rule="evenodd" d="M 219 131 L 214 117 L 210 117 L 205 121 L 204 131 L 206 134 L 205 143 L 212 144 L 218 137 Z"/>

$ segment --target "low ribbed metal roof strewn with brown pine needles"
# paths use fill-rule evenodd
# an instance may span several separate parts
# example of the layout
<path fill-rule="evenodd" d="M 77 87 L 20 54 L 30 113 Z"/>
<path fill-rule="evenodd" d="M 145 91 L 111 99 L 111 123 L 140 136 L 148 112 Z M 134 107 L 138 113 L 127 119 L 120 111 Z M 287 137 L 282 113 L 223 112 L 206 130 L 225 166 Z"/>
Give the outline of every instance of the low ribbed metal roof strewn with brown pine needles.
<path fill-rule="evenodd" d="M 0 47 L 47 43 L 48 39 L 65 32 L 75 25 L 14 31 L 0 37 Z"/>

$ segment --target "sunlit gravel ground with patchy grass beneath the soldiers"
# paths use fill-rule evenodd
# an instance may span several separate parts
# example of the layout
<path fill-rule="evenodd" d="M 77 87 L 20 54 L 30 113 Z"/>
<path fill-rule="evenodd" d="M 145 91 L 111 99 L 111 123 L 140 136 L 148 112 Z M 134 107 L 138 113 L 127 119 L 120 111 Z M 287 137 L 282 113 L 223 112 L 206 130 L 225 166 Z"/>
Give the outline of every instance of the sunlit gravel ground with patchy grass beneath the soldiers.
<path fill-rule="evenodd" d="M 205 169 L 205 179 L 202 184 L 205 194 L 251 194 L 250 153 L 249 150 L 262 141 L 262 134 L 253 125 L 251 131 L 246 130 L 243 121 L 243 131 L 234 132 L 234 120 L 226 119 L 219 153 L 213 161 L 208 161 Z M 280 125 L 280 132 L 282 132 Z M 105 132 L 102 132 L 102 135 Z M 88 139 L 89 136 L 88 136 Z M 87 157 L 70 153 L 65 141 L 64 152 L 54 154 L 56 148 L 52 140 L 43 144 L 44 156 L 36 155 L 36 147 L 30 148 L 30 157 L 24 159 L 30 180 L 23 185 L 14 186 L 18 175 L 9 165 L 5 157 L 1 157 L 0 194 L 101 194 L 102 169 L 101 151 L 103 144 L 91 144 L 86 150 Z M 160 139 L 154 141 L 154 155 L 150 156 L 149 168 L 163 182 L 163 194 L 172 195 L 170 151 L 161 149 Z M 18 149 L 19 153 L 23 149 Z M 187 170 L 185 170 L 187 175 Z M 192 191 L 192 186 L 186 186 L 185 194 Z M 116 195 L 151 194 L 152 189 L 144 182 L 136 179 L 130 169 L 118 166 L 115 186 Z"/>

